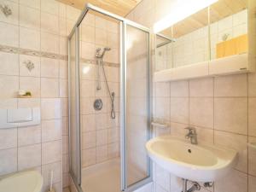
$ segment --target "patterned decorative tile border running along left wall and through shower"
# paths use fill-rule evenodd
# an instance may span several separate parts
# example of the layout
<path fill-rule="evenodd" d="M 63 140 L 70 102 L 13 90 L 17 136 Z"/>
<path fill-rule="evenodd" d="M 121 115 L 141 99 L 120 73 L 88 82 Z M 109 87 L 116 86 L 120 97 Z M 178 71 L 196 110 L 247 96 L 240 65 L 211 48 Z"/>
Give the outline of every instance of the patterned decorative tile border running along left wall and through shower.
<path fill-rule="evenodd" d="M 2 44 L 0 44 L 0 51 L 6 52 L 6 53 L 12 53 L 12 54 L 32 55 L 32 56 L 38 56 L 38 57 L 45 57 L 49 59 L 67 61 L 67 55 L 53 54 L 49 52 L 43 52 L 43 51 L 32 50 L 32 49 L 16 48 L 16 47 L 11 47 L 11 46 L 2 45 Z M 93 65 L 96 65 L 96 60 L 87 60 L 87 59 L 81 58 L 80 61 L 84 63 L 90 63 Z M 103 63 L 108 67 L 119 67 L 119 63 L 111 63 L 111 62 L 103 62 Z"/>

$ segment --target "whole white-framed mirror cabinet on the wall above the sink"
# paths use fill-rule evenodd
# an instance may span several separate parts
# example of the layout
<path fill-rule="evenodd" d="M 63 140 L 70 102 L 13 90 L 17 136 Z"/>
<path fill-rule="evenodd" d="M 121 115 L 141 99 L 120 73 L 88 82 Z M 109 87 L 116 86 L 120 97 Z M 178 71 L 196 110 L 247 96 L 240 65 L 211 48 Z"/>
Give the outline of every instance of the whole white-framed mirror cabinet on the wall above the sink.
<path fill-rule="evenodd" d="M 254 72 L 255 10 L 255 0 L 218 0 L 157 33 L 154 81 Z"/>

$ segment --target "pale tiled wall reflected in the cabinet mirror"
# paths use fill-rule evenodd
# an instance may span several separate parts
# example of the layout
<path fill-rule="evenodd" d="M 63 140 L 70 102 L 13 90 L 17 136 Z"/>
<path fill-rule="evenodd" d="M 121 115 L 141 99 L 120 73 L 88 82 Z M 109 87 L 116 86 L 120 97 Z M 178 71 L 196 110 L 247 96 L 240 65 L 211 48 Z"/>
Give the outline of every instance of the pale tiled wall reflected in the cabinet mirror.
<path fill-rule="evenodd" d="M 211 49 L 209 50 L 208 26 L 190 32 L 176 39 L 175 43 L 166 44 L 157 49 L 156 71 L 167 67 L 182 67 L 196 62 L 208 61 L 216 58 L 216 45 L 227 39 L 247 34 L 247 9 L 210 25 Z"/>

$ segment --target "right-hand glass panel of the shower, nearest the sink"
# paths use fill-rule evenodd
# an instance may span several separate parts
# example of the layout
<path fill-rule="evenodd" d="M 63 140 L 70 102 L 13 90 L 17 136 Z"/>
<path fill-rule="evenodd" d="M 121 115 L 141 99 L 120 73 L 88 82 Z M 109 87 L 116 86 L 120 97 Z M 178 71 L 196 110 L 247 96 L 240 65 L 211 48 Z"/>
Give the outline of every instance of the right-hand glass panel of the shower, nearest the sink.
<path fill-rule="evenodd" d="M 148 33 L 126 27 L 126 185 L 148 177 Z"/>

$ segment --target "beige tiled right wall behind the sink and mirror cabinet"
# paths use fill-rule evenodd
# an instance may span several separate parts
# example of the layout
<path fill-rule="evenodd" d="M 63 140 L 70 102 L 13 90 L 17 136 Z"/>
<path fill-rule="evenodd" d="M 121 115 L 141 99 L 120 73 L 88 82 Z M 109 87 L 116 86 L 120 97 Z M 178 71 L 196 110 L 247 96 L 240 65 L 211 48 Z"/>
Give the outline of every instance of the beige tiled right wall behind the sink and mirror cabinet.
<path fill-rule="evenodd" d="M 167 13 L 168 0 L 143 0 L 128 18 L 152 27 Z M 154 46 L 154 44 L 153 44 Z M 154 55 L 153 55 L 154 58 Z M 166 120 L 170 133 L 184 138 L 184 127 L 195 126 L 199 143 L 214 143 L 239 152 L 239 162 L 214 188 L 201 191 L 254 192 L 256 152 L 247 142 L 256 141 L 256 75 L 240 74 L 218 78 L 154 84 L 154 117 Z M 154 165 L 154 191 L 181 190 L 181 179 Z"/>

